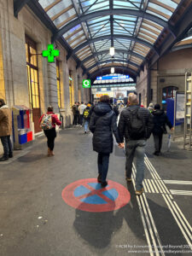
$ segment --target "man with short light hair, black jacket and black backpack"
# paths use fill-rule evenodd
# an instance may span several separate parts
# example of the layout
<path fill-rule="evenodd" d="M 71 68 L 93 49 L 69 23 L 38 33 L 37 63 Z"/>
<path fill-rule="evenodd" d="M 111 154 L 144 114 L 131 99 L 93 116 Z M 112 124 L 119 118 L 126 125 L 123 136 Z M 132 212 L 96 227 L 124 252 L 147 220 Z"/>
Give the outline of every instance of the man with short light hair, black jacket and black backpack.
<path fill-rule="evenodd" d="M 131 182 L 132 162 L 137 158 L 136 195 L 143 194 L 144 178 L 144 152 L 147 139 L 154 127 L 151 113 L 148 109 L 141 108 L 137 101 L 137 95 L 130 93 L 128 96 L 128 108 L 122 111 L 119 119 L 120 147 L 124 147 L 125 137 L 125 179 Z"/>

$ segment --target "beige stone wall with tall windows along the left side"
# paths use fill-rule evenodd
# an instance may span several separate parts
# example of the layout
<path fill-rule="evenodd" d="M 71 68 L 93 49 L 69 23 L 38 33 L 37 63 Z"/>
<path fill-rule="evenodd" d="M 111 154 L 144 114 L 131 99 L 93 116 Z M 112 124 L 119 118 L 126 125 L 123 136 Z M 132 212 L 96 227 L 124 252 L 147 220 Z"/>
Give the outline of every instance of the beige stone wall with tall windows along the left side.
<path fill-rule="evenodd" d="M 26 70 L 26 35 L 37 44 L 38 54 L 47 49 L 51 42 L 51 32 L 38 20 L 32 10 L 25 6 L 21 9 L 18 19 L 14 16 L 14 1 L 0 0 L 0 97 L 3 97 L 9 107 L 29 104 L 29 91 Z M 69 71 L 73 74 L 74 102 L 90 101 L 90 93 L 83 90 L 83 70 L 76 69 L 73 58 L 67 61 L 67 51 L 61 44 L 55 42 L 60 49 L 58 58 L 61 75 L 61 109 L 64 125 L 72 124 L 72 110 L 69 99 Z M 53 105 L 55 113 L 59 113 L 56 65 L 49 64 L 47 58 L 38 55 L 38 82 L 41 112 Z"/>

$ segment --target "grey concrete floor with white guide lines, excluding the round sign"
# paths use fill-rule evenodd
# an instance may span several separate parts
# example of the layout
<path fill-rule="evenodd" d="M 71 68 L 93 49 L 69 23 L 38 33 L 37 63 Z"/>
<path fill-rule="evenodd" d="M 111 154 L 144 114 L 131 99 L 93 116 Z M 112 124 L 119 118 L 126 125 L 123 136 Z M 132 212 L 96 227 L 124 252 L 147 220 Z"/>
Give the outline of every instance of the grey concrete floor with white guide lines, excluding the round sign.
<path fill-rule="evenodd" d="M 80 128 L 60 131 L 55 157 L 46 156 L 41 137 L 0 164 L 0 255 L 192 255 L 192 153 L 179 143 L 167 153 L 165 139 L 164 154 L 154 157 L 150 139 L 146 193 L 136 197 L 131 183 L 125 207 L 83 212 L 68 206 L 61 192 L 69 183 L 97 177 L 91 137 Z M 124 152 L 114 145 L 108 179 L 127 188 L 124 172 Z M 154 252 L 148 253 L 150 245 Z"/>

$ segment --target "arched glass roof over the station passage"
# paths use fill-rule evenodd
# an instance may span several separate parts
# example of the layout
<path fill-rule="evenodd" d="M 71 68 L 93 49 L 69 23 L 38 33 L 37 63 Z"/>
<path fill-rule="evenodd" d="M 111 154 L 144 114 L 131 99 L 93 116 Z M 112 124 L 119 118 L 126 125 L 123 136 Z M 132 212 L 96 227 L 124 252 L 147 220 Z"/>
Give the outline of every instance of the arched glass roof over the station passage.
<path fill-rule="evenodd" d="M 89 73 L 102 65 L 138 71 L 180 0 L 39 0 Z M 145 15 L 141 15 L 141 14 Z M 84 16 L 86 18 L 84 18 Z M 115 55 L 109 55 L 114 47 Z"/>

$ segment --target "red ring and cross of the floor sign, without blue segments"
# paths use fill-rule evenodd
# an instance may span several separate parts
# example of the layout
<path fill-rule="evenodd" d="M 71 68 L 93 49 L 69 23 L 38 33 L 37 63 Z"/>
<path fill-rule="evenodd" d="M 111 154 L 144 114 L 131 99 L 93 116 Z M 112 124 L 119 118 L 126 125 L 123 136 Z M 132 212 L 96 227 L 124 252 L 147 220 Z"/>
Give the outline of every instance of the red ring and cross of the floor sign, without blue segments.
<path fill-rule="evenodd" d="M 130 192 L 119 183 L 115 183 L 111 180 L 108 180 L 108 187 L 103 189 L 94 189 L 90 187 L 89 183 L 97 183 L 97 179 L 80 179 L 74 183 L 67 185 L 67 187 L 62 190 L 62 199 L 69 206 L 85 212 L 110 212 L 113 210 L 117 210 L 121 207 L 125 207 L 125 205 L 128 204 L 128 202 L 131 199 Z M 84 195 L 75 196 L 74 191 L 75 189 L 79 188 L 79 186 L 84 186 L 84 188 L 89 189 L 90 192 Z M 114 201 L 110 200 L 108 196 L 102 194 L 102 192 L 110 189 L 116 190 L 118 192 L 118 196 Z M 105 203 L 95 204 L 80 201 L 89 198 L 91 195 L 96 195 L 97 197 L 101 198 L 101 200 L 105 201 Z"/>

